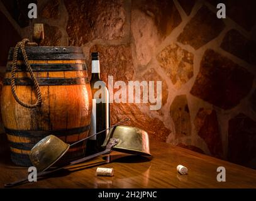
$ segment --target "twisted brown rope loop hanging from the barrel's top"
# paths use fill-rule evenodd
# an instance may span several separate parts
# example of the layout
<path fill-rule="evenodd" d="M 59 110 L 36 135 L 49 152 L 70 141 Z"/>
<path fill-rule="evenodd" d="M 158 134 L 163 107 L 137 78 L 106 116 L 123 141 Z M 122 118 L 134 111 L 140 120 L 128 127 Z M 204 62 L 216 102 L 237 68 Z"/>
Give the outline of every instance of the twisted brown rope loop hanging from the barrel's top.
<path fill-rule="evenodd" d="M 30 66 L 30 63 L 28 62 L 28 57 L 26 55 L 26 50 L 25 50 L 25 44 L 28 43 L 30 40 L 28 40 L 28 38 L 23 39 L 22 41 L 19 41 L 17 43 L 17 45 L 14 48 L 13 51 L 13 63 L 11 66 L 11 92 L 13 92 L 13 97 L 14 99 L 23 107 L 27 107 L 27 108 L 35 108 L 37 106 L 41 106 L 42 104 L 42 96 L 41 96 L 41 91 L 40 91 L 40 87 L 39 84 L 36 80 L 35 74 L 33 73 L 33 70 Z M 21 48 L 21 53 L 23 55 L 24 58 L 24 62 L 26 65 L 26 70 L 28 70 L 28 72 L 30 72 L 30 76 L 31 79 L 33 81 L 33 84 L 35 85 L 35 90 L 36 90 L 36 103 L 35 104 L 26 104 L 25 102 L 22 102 L 19 98 L 18 95 L 16 94 L 16 90 L 15 90 L 15 73 L 16 73 L 16 66 L 17 66 L 17 58 L 18 58 L 18 52 L 19 52 L 19 48 Z"/>

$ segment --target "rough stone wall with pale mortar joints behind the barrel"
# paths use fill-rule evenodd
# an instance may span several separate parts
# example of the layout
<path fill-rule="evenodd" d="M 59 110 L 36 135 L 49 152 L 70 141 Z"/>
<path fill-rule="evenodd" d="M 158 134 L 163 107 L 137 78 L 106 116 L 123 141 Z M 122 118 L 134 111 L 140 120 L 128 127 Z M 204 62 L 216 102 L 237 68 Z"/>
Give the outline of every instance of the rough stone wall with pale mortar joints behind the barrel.
<path fill-rule="evenodd" d="M 255 1 L 221 1 L 218 19 L 217 0 L 41 0 L 33 21 L 28 2 L 0 1 L 2 77 L 9 46 L 44 23 L 42 45 L 82 46 L 89 69 L 99 51 L 105 82 L 162 81 L 159 111 L 111 104 L 113 124 L 130 117 L 150 138 L 256 168 Z"/>

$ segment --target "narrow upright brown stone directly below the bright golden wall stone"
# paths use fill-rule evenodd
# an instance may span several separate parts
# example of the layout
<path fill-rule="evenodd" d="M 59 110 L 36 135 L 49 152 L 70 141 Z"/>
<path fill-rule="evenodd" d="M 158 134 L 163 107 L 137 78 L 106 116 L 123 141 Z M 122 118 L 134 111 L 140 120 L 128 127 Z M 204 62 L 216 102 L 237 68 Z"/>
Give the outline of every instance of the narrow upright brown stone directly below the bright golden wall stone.
<path fill-rule="evenodd" d="M 174 121 L 175 138 L 191 135 L 191 119 L 186 95 L 177 95 L 170 106 L 170 117 Z"/>

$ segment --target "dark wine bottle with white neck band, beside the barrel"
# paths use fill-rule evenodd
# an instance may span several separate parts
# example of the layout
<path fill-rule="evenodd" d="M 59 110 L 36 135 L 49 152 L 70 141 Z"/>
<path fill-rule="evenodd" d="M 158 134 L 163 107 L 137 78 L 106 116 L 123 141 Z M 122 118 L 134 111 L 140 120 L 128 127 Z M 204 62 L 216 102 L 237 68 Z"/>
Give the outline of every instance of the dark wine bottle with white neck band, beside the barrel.
<path fill-rule="evenodd" d="M 92 114 L 89 136 L 99 131 L 109 128 L 109 91 L 106 84 L 101 80 L 101 70 L 99 65 L 99 52 L 92 52 Z M 108 131 L 92 136 L 87 141 L 86 155 L 92 155 L 103 151 L 101 145 L 104 143 Z"/>

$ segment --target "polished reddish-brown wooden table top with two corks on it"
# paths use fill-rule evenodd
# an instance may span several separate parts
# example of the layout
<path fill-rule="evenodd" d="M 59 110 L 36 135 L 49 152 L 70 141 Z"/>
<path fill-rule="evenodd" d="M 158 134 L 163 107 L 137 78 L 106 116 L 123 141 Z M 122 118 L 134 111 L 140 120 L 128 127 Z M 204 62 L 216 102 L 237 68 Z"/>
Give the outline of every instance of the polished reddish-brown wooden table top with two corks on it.
<path fill-rule="evenodd" d="M 256 170 L 167 143 L 151 141 L 150 149 L 152 160 L 112 151 L 110 163 L 99 156 L 16 188 L 256 188 Z M 179 164 L 188 168 L 187 175 L 177 173 Z M 97 177 L 97 166 L 114 168 L 114 176 Z M 216 180 L 218 166 L 226 168 L 226 182 Z M 0 187 L 27 174 L 27 168 L 14 166 L 1 154 Z"/>

